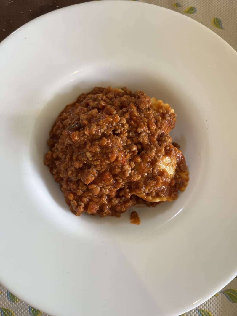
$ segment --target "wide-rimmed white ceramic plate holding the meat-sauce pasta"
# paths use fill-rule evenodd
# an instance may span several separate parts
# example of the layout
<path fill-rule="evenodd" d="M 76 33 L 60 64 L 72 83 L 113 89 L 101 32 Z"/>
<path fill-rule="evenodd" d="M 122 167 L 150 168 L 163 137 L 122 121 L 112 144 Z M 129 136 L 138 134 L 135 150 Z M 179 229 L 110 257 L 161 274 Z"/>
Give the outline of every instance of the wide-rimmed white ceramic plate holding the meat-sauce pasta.
<path fill-rule="evenodd" d="M 0 45 L 0 282 L 57 316 L 178 315 L 237 273 L 237 54 L 206 27 L 145 3 L 41 16 Z M 120 219 L 74 216 L 43 165 L 52 123 L 94 86 L 141 89 L 177 113 L 190 182 Z"/>

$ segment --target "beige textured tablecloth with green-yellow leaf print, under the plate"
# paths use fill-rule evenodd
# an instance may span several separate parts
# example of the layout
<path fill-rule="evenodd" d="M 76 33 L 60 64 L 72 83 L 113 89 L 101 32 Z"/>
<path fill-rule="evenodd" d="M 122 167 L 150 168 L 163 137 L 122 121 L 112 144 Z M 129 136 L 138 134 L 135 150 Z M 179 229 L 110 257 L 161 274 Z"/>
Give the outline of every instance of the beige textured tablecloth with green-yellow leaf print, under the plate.
<path fill-rule="evenodd" d="M 237 0 L 180 0 L 178 2 L 169 0 L 143 0 L 143 2 L 152 3 L 168 9 L 172 9 L 176 12 L 191 17 L 192 19 L 204 24 L 206 27 L 209 27 L 212 31 L 221 36 L 237 51 Z M 236 250 L 233 248 L 233 251 Z M 195 284 L 193 284 L 193 287 L 195 287 Z M 183 315 L 237 316 L 236 303 L 237 277 L 232 282 L 230 282 L 224 289 L 222 289 L 222 291 L 218 292 L 216 295 L 210 298 L 210 300 L 206 301 L 204 304 L 198 306 L 197 308 Z M 170 298 L 170 304 L 172 304 L 172 297 Z M 42 306 L 42 310 L 44 310 L 44 306 Z M 31 307 L 27 303 L 20 301 L 17 297 L 9 293 L 9 291 L 7 291 L 7 289 L 3 288 L 3 286 L 1 285 L 0 313 L 0 316 L 47 315 Z M 79 315 L 80 311 L 78 311 L 78 316 Z"/>

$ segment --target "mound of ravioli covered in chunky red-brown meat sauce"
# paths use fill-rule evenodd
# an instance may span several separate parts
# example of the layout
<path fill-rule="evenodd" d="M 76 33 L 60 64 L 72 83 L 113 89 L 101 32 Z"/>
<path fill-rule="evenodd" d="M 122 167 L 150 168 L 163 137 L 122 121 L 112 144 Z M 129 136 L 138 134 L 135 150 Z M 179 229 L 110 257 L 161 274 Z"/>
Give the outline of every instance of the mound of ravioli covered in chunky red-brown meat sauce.
<path fill-rule="evenodd" d="M 44 163 L 70 210 L 120 217 L 136 203 L 176 199 L 188 173 L 168 135 L 175 121 L 168 104 L 127 88 L 94 88 L 66 106 Z"/>

